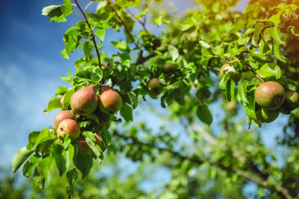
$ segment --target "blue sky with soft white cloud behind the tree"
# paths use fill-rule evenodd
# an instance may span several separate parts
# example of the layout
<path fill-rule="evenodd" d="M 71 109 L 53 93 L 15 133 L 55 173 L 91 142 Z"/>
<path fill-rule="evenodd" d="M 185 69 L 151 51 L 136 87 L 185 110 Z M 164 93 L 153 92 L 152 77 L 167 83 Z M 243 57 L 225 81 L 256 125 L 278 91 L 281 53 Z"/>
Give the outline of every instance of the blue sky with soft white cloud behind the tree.
<path fill-rule="evenodd" d="M 191 6 L 187 0 L 183 3 L 183 0 L 167 1 L 172 1 L 180 10 Z M 89 0 L 79 0 L 79 2 L 87 4 Z M 247 2 L 248 0 L 242 0 L 237 9 L 244 9 Z M 59 86 L 70 86 L 61 81 L 60 77 L 66 76 L 67 70 L 74 73 L 73 64 L 83 54 L 77 50 L 70 56 L 71 60 L 63 59 L 60 55 L 60 51 L 64 48 L 62 36 L 69 27 L 80 20 L 78 16 L 70 15 L 66 23 L 56 23 L 48 22 L 48 17 L 41 15 L 44 6 L 61 3 L 62 0 L 20 0 L 19 2 L 4 0 L 2 2 L 0 165 L 11 164 L 15 152 L 26 145 L 29 132 L 52 125 L 58 110 L 45 115 L 43 109 Z M 122 33 L 108 30 L 104 44 L 122 37 Z M 150 100 L 150 102 L 159 104 L 159 100 Z M 219 103 L 216 103 L 211 106 L 211 109 L 213 114 L 220 118 L 223 113 L 218 111 L 218 105 Z M 139 119 L 147 120 L 149 126 L 155 129 L 158 129 L 157 124 L 162 124 L 150 112 Z M 287 120 L 288 117 L 281 114 L 275 122 L 263 126 L 260 131 L 267 146 L 274 146 L 275 137 L 283 134 L 282 128 Z M 218 120 L 214 119 L 212 127 L 216 131 L 219 130 L 217 124 Z M 169 128 L 176 133 L 181 130 L 177 126 Z"/>

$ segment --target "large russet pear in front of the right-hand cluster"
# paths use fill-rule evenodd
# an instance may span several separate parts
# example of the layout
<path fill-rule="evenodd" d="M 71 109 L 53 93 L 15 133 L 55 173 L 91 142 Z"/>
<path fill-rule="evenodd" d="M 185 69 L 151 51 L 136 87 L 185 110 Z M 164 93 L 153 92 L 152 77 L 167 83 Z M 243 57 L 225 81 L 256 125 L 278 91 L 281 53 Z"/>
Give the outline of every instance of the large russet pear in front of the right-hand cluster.
<path fill-rule="evenodd" d="M 286 93 L 281 84 L 269 81 L 258 86 L 254 97 L 263 109 L 274 110 L 284 103 Z"/>

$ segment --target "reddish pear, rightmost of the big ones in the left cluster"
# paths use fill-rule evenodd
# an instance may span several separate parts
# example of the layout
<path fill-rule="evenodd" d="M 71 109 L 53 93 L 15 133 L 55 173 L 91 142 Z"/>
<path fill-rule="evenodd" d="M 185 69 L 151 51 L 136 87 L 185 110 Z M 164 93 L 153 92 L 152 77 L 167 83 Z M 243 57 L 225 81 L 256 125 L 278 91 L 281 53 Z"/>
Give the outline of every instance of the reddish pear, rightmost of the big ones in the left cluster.
<path fill-rule="evenodd" d="M 109 87 L 102 87 L 102 92 L 99 97 L 99 108 L 103 113 L 116 113 L 121 109 L 122 103 L 123 100 L 119 93 Z"/>

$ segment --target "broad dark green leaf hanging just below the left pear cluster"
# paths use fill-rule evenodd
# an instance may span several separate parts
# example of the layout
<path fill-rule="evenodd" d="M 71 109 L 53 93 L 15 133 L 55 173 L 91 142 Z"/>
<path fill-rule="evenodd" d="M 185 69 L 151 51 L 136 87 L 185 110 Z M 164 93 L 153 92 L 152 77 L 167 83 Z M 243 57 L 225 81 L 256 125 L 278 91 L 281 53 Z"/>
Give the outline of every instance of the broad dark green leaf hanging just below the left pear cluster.
<path fill-rule="evenodd" d="M 74 157 L 74 164 L 76 168 L 82 173 L 82 179 L 89 174 L 92 167 L 90 158 L 81 152 L 78 152 L 77 156 Z"/>

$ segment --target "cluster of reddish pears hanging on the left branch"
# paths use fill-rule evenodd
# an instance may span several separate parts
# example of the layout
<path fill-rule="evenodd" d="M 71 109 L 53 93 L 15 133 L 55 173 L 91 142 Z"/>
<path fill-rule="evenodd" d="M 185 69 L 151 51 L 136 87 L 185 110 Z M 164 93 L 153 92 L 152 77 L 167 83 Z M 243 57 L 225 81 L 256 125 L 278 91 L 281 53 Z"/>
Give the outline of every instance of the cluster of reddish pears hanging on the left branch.
<path fill-rule="evenodd" d="M 60 99 L 63 104 L 64 96 Z M 56 128 L 57 136 L 64 140 L 68 135 L 73 144 L 78 146 L 79 151 L 89 154 L 91 151 L 88 144 L 85 142 L 85 137 L 81 135 L 81 129 L 77 122 L 80 117 L 92 119 L 99 124 L 99 128 L 110 126 L 110 120 L 99 121 L 99 118 L 93 113 L 96 108 L 105 114 L 113 114 L 118 112 L 122 107 L 122 98 L 114 90 L 109 87 L 103 86 L 101 95 L 98 97 L 94 86 L 88 86 L 76 91 L 70 98 L 70 107 L 62 106 L 60 111 L 54 118 L 54 127 Z M 100 146 L 102 151 L 106 147 L 101 138 L 101 134 L 94 133 L 96 144 Z"/>

